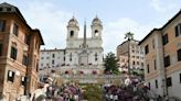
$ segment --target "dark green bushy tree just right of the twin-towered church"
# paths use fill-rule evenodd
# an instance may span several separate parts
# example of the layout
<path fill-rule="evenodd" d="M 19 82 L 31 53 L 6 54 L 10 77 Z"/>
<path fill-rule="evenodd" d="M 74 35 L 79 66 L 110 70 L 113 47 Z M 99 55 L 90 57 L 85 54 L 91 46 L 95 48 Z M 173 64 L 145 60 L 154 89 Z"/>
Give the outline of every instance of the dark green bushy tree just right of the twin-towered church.
<path fill-rule="evenodd" d="M 115 75 L 118 75 L 119 74 L 119 70 L 118 70 L 118 59 L 117 57 L 115 56 L 114 53 L 108 53 L 106 55 L 106 58 L 104 59 L 105 64 L 105 70 L 104 72 L 105 74 L 115 74 Z"/>

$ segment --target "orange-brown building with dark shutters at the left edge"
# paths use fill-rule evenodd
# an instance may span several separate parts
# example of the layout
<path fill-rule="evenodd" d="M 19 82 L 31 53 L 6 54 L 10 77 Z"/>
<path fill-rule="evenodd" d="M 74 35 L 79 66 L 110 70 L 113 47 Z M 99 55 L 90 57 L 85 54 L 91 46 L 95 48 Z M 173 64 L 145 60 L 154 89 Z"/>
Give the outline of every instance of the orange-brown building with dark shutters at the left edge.
<path fill-rule="evenodd" d="M 38 88 L 38 61 L 43 40 L 32 30 L 19 9 L 0 4 L 0 97 L 3 101 L 34 91 Z"/>

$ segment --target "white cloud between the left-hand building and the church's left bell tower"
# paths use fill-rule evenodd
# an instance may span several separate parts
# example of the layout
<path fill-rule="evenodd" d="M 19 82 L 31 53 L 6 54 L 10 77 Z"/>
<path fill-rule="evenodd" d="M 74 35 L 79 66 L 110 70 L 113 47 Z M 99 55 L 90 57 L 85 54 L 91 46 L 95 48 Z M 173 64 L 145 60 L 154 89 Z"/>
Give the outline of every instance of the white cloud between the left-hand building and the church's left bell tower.
<path fill-rule="evenodd" d="M 41 30 L 46 48 L 65 48 L 66 25 L 72 13 L 56 10 L 50 2 L 29 3 L 22 12 L 32 29 Z"/>

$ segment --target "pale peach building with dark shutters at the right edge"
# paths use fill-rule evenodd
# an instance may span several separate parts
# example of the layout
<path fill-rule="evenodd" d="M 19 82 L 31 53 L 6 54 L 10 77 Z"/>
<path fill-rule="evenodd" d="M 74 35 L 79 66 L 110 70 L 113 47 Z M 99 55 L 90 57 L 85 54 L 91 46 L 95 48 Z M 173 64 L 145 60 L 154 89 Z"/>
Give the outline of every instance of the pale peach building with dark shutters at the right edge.
<path fill-rule="evenodd" d="M 145 47 L 145 80 L 150 89 L 181 99 L 181 11 L 139 44 Z"/>

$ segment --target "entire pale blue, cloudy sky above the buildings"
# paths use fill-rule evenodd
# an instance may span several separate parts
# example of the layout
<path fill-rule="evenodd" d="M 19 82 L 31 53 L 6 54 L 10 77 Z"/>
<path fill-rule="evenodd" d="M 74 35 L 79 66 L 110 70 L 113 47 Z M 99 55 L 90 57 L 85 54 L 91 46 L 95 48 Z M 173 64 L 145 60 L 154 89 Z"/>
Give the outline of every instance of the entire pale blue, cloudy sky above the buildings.
<path fill-rule="evenodd" d="M 74 15 L 83 36 L 84 20 L 91 36 L 92 20 L 103 22 L 104 53 L 116 52 L 125 33 L 142 40 L 153 27 L 160 27 L 181 9 L 181 0 L 1 0 L 18 7 L 32 29 L 40 29 L 45 46 L 65 48 L 66 25 Z"/>

